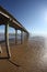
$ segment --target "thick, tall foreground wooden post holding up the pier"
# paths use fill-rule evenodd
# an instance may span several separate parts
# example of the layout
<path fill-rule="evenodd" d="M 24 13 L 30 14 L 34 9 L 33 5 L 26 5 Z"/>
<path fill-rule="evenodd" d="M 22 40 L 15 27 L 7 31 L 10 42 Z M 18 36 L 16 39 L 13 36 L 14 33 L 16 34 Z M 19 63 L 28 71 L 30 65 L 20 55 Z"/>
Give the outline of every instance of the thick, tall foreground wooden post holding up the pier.
<path fill-rule="evenodd" d="M 7 47 L 8 58 L 10 58 L 11 53 L 10 53 L 10 47 L 9 47 L 9 32 L 8 32 L 8 29 L 9 29 L 9 22 L 5 24 L 5 47 Z"/>

